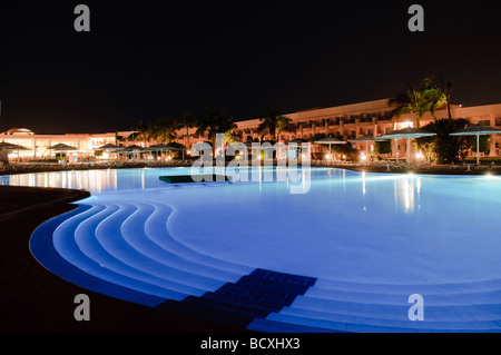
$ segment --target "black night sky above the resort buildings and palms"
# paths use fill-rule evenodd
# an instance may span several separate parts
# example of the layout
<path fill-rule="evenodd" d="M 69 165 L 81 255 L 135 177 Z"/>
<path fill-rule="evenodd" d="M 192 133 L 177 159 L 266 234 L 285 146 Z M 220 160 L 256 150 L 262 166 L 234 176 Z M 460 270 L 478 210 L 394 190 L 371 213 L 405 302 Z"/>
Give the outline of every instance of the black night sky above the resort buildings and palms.
<path fill-rule="evenodd" d="M 90 32 L 73 9 L 90 8 Z M 424 8 L 424 32 L 407 9 Z M 435 70 L 501 103 L 495 1 L 2 1 L 0 131 L 128 130 L 210 105 L 236 120 L 389 98 Z M 500 10 L 501 11 L 501 10 Z"/>

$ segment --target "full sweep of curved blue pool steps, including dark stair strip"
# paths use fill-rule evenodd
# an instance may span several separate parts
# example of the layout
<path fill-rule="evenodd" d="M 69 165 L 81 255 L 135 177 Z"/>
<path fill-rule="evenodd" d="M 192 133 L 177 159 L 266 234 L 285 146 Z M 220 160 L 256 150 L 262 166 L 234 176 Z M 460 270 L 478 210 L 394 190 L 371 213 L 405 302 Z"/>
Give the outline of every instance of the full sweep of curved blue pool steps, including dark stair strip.
<path fill-rule="evenodd" d="M 167 228 L 171 213 L 163 204 L 100 203 L 80 206 L 41 227 L 53 227 L 55 250 L 75 267 L 63 270 L 62 263 L 56 263 L 57 274 L 114 297 L 185 316 L 264 332 L 501 329 L 499 279 L 443 285 L 317 279 L 304 294 L 293 296 L 276 296 L 284 287 L 279 278 L 259 279 L 250 286 L 256 298 L 246 298 L 249 286 L 238 285 L 245 284 L 252 267 L 198 253 L 174 238 Z M 48 241 L 43 243 L 47 248 Z M 224 294 L 227 287 L 233 290 Z M 424 322 L 407 318 L 412 306 L 407 297 L 413 293 L 424 297 Z"/>

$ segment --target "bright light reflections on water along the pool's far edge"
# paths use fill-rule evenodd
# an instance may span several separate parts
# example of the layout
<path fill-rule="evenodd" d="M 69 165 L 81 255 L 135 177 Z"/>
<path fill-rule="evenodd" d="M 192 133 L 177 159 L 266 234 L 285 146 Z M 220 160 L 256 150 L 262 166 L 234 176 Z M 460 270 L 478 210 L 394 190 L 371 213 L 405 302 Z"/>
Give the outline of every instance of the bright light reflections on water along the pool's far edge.
<path fill-rule="evenodd" d="M 161 175 L 188 175 L 189 168 L 140 168 L 140 169 L 96 169 L 96 170 L 69 170 L 52 172 L 20 174 L 11 176 L 1 176 L 0 185 L 11 186 L 36 186 L 36 187 L 58 187 L 86 189 L 92 194 L 102 194 L 120 190 L 145 190 L 149 188 L 173 188 L 179 185 L 169 186 L 158 179 Z M 216 174 L 223 174 L 220 168 L 214 170 Z M 256 184 L 259 186 L 259 194 L 265 194 L 263 189 L 265 184 L 269 184 L 272 177 L 276 180 L 277 174 L 273 168 L 246 169 L 240 168 L 232 170 L 233 176 L 244 179 L 244 181 L 234 181 L 234 184 Z M 340 191 L 343 195 L 340 198 L 343 203 L 353 204 L 360 200 L 362 209 L 367 211 L 374 203 L 374 199 L 393 200 L 394 211 L 404 214 L 414 214 L 421 208 L 422 189 L 435 190 L 439 185 L 440 193 L 448 191 L 448 177 L 419 176 L 419 175 L 392 175 L 392 174 L 370 174 L 344 169 L 312 168 L 303 169 L 302 180 L 296 184 L 305 184 L 306 174 L 311 174 L 312 194 L 315 195 L 318 189 L 322 194 L 330 194 L 332 186 L 336 186 L 335 197 L 340 198 Z M 500 179 L 470 177 L 469 180 L 477 181 L 471 185 L 472 193 L 482 189 L 481 183 L 500 184 Z M 245 181 L 248 180 L 248 181 Z M 450 181 L 466 180 L 461 177 L 449 178 Z M 226 183 L 224 183 L 226 184 Z M 289 188 L 293 184 L 288 179 L 278 183 Z M 327 184 L 327 185 L 326 185 Z M 462 183 L 464 184 L 464 181 Z M 341 185 L 341 188 L 340 188 Z M 185 185 L 186 186 L 186 185 Z M 455 191 L 461 193 L 461 191 Z M 465 191 L 462 191 L 463 194 Z M 310 193 L 306 193 L 310 194 Z M 488 193 L 489 194 L 489 193 Z M 360 198 L 362 197 L 362 198 Z"/>

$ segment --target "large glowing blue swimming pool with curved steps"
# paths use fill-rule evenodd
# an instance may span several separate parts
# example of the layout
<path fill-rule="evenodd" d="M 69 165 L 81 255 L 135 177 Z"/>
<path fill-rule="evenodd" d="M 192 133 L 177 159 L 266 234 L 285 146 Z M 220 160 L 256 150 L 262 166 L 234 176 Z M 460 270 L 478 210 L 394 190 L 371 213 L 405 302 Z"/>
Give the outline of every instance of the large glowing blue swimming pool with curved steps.
<path fill-rule="evenodd" d="M 53 273 L 117 298 L 194 316 L 214 307 L 269 332 L 501 329 L 501 179 L 311 168 L 306 194 L 289 181 L 159 180 L 188 170 L 0 181 L 89 189 L 30 248 Z M 409 317 L 414 294 L 423 321 Z"/>

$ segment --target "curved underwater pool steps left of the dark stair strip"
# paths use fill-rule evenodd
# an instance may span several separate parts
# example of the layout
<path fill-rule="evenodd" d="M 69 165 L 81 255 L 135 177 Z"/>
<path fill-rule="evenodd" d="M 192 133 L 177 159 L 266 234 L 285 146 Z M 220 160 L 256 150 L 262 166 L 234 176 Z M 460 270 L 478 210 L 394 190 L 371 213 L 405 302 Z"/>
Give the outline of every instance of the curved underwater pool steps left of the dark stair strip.
<path fill-rule="evenodd" d="M 205 259 L 205 264 L 202 265 L 178 257 L 175 254 L 165 255 L 166 250 L 164 249 L 161 250 L 164 253 L 164 260 L 177 262 L 177 265 L 174 265 L 174 267 L 168 267 L 165 264 L 159 264 L 151 259 L 150 255 L 139 253 L 137 248 L 130 245 L 130 238 L 126 238 L 128 233 L 132 234 L 134 238 L 146 237 L 144 231 L 138 233 L 140 230 L 134 230 L 134 228 L 129 230 L 127 227 L 129 225 L 137 226 L 137 220 L 134 221 L 131 218 L 132 216 L 139 216 L 139 211 L 146 211 L 146 217 L 149 217 L 151 208 L 144 208 L 144 206 L 139 208 L 138 206 L 124 204 L 120 206 L 96 204 L 90 209 L 68 218 L 58 226 L 55 233 L 57 249 L 66 259 L 92 275 L 105 277 L 111 282 L 117 282 L 118 278 L 121 278 L 119 284 L 127 287 L 131 287 L 134 280 L 137 279 L 180 293 L 174 295 L 171 297 L 174 299 L 183 299 L 188 295 L 200 295 L 207 290 L 217 289 L 226 282 L 233 282 L 239 278 L 240 275 L 212 267 L 209 265 L 210 263 Z M 147 220 L 153 219 L 147 218 Z M 120 229 L 117 226 L 121 226 Z M 151 228 L 151 230 L 158 233 L 156 228 Z M 166 231 L 166 228 L 163 230 Z M 65 241 L 59 241 L 61 236 L 71 235 L 75 236 L 75 240 L 68 240 L 66 238 L 63 239 Z M 169 237 L 166 233 L 161 235 L 164 240 Z M 145 240 L 147 239 L 136 241 L 137 244 L 145 245 Z M 158 249 L 157 247 L 156 250 Z M 186 256 L 187 253 L 184 253 L 184 255 Z M 198 254 L 196 255 L 198 256 L 197 262 L 200 262 L 200 256 Z M 213 258 L 208 259 L 212 260 Z M 179 265 L 179 262 L 183 262 L 183 265 Z M 94 267 L 89 268 L 86 263 L 92 264 Z M 183 267 L 179 268 L 179 266 Z M 186 272 L 187 268 L 190 269 L 189 273 Z M 111 272 L 115 272 L 115 274 Z M 207 277 L 207 275 L 210 277 Z M 127 276 L 128 278 L 122 276 Z M 158 295 L 158 292 L 156 294 Z M 161 293 L 161 296 L 166 296 L 166 294 Z"/>

